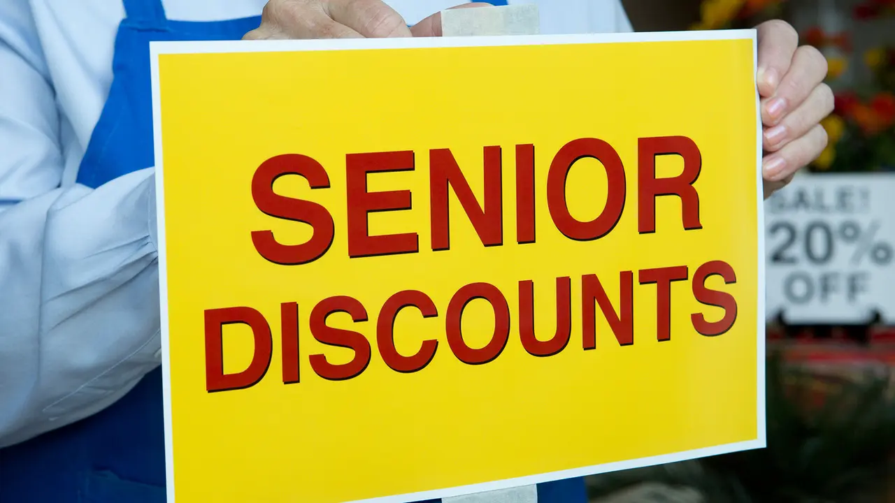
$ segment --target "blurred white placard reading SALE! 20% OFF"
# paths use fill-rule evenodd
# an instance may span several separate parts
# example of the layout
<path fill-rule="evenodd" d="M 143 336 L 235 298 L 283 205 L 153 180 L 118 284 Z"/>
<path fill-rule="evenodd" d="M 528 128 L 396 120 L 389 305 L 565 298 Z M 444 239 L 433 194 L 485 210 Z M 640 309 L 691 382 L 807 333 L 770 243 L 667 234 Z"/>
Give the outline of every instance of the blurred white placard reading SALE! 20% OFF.
<path fill-rule="evenodd" d="M 895 321 L 895 174 L 800 175 L 765 209 L 769 319 Z"/>

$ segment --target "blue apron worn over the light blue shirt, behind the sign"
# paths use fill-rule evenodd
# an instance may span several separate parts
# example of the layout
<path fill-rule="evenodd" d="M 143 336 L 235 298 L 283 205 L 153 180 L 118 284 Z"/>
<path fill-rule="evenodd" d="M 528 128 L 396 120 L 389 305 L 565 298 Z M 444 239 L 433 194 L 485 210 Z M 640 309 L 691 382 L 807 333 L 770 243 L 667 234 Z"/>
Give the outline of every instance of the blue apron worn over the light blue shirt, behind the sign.
<path fill-rule="evenodd" d="M 169 21 L 161 0 L 124 0 L 124 9 L 115 38 L 115 78 L 78 174 L 78 183 L 93 188 L 155 166 L 150 41 L 238 40 L 260 24 L 260 17 Z M 165 502 L 162 404 L 158 369 L 106 410 L 0 449 L 0 503 Z M 586 501 L 581 479 L 541 484 L 538 495 L 539 503 Z"/>

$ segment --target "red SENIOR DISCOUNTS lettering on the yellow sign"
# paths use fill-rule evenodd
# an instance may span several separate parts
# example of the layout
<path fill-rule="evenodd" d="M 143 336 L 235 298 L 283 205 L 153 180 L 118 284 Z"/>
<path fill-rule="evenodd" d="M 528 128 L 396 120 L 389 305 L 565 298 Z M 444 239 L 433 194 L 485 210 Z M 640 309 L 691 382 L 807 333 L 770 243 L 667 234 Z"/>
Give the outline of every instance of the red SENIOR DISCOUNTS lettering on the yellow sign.
<path fill-rule="evenodd" d="M 257 230 L 251 233 L 255 250 L 264 260 L 283 266 L 301 266 L 320 260 L 332 246 L 338 233 L 347 238 L 348 255 L 351 259 L 419 253 L 419 235 L 371 234 L 368 216 L 373 212 L 411 209 L 411 191 L 371 192 L 368 178 L 387 176 L 388 173 L 413 171 L 418 153 L 413 151 L 372 152 L 348 154 L 345 157 L 345 203 L 347 205 L 345 229 L 338 229 L 330 211 L 310 200 L 279 195 L 273 190 L 277 179 L 284 176 L 300 176 L 311 190 L 331 190 L 328 168 L 318 161 L 300 154 L 287 154 L 270 158 L 255 171 L 251 182 L 251 195 L 257 208 L 269 217 L 303 223 L 311 226 L 311 238 L 305 243 L 281 243 L 272 231 Z M 683 158 L 684 169 L 673 177 L 656 176 L 656 158 L 675 155 Z M 464 171 L 450 149 L 432 149 L 429 156 L 430 243 L 432 252 L 451 249 L 449 222 L 450 194 L 453 193 L 486 247 L 499 247 L 508 238 L 504 229 L 504 200 L 502 187 L 503 152 L 500 147 L 483 149 L 484 180 L 482 197 L 471 189 Z M 581 221 L 572 216 L 567 205 L 567 176 L 575 162 L 583 158 L 600 161 L 609 182 L 605 201 L 597 201 L 602 209 L 598 217 Z M 702 170 L 702 155 L 694 141 L 683 136 L 642 138 L 638 141 L 637 175 L 637 229 L 640 234 L 656 231 L 656 200 L 660 197 L 677 197 L 680 200 L 681 225 L 687 231 L 702 229 L 699 193 L 695 182 Z M 512 236 L 518 245 L 536 244 L 535 233 L 535 162 L 534 146 L 516 146 L 516 190 L 509 194 L 516 211 L 516 229 Z M 414 194 L 416 195 L 416 194 Z M 617 226 L 626 207 L 626 170 L 622 160 L 606 141 L 583 138 L 568 142 L 553 157 L 546 175 L 546 209 L 550 220 L 559 233 L 569 240 L 589 242 L 601 239 Z M 507 205 L 509 206 L 509 205 Z M 456 223 L 454 224 L 456 225 Z M 302 351 L 299 333 L 307 329 L 322 345 L 349 348 L 354 352 L 350 362 L 335 364 L 325 354 L 310 354 L 307 361 L 312 371 L 322 379 L 354 379 L 365 371 L 373 358 L 373 346 L 379 358 L 396 372 L 422 371 L 447 343 L 459 361 L 469 365 L 493 362 L 503 352 L 510 337 L 510 327 L 515 324 L 525 351 L 537 357 L 549 357 L 564 351 L 573 340 L 572 303 L 581 303 L 582 327 L 575 344 L 582 350 L 596 349 L 597 311 L 609 324 L 618 345 L 635 343 L 635 284 L 656 289 L 655 337 L 659 341 L 671 338 L 671 284 L 689 282 L 689 290 L 699 303 L 721 308 L 720 319 L 709 320 L 702 312 L 690 315 L 696 333 L 706 337 L 720 336 L 730 330 L 737 320 L 737 301 L 732 294 L 706 286 L 706 280 L 719 276 L 724 284 L 736 283 L 737 276 L 729 263 L 712 260 L 695 270 L 675 265 L 658 269 L 619 271 L 619 291 L 607 292 L 601 278 L 595 274 L 577 277 L 557 277 L 555 299 L 556 330 L 553 334 L 534 333 L 534 285 L 531 279 L 520 277 L 517 287 L 518 305 L 509 305 L 507 296 L 499 287 L 489 283 L 469 283 L 456 289 L 447 305 L 437 305 L 430 296 L 420 290 L 405 290 L 392 294 L 381 306 L 364 305 L 350 293 L 321 300 L 314 305 L 299 306 L 296 302 L 284 302 L 280 306 L 278 332 L 281 335 L 283 354 L 283 382 L 301 381 L 299 362 Z M 613 278 L 614 279 L 614 278 Z M 572 298 L 572 284 L 580 288 L 580 298 Z M 654 285 L 654 286 L 653 286 Z M 473 301 L 486 302 L 494 315 L 494 330 L 490 342 L 483 347 L 467 345 L 462 333 L 462 320 L 466 306 Z M 543 300 L 541 302 L 547 302 Z M 299 309 L 310 310 L 308 326 L 299 327 Z M 378 312 L 371 311 L 378 309 Z M 423 318 L 443 320 L 443 338 L 421 337 L 419 349 L 414 354 L 401 354 L 396 350 L 396 319 L 402 311 L 416 311 Z M 551 309 L 551 311 L 553 311 Z M 328 317 L 343 312 L 351 316 L 358 330 L 335 328 L 328 324 Z M 541 312 L 541 311 L 539 311 Z M 637 317 L 644 317 L 638 312 Z M 369 333 L 362 333 L 363 322 L 375 318 Z M 719 318 L 717 315 L 713 318 Z M 244 371 L 225 373 L 222 335 L 229 324 L 244 324 L 251 328 L 254 338 L 254 354 L 251 364 Z M 249 388 L 263 379 L 268 371 L 274 337 L 271 323 L 248 306 L 234 306 L 205 311 L 206 380 L 209 392 Z M 652 336 L 651 336 L 652 337 Z"/>

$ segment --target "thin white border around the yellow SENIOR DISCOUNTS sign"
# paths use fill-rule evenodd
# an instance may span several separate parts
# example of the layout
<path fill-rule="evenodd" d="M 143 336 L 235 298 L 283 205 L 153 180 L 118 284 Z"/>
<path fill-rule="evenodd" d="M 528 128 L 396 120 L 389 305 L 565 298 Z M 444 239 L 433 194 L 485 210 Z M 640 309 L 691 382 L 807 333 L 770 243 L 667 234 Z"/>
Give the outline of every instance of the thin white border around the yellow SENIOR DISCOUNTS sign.
<path fill-rule="evenodd" d="M 150 64 L 152 67 L 152 116 L 156 158 L 156 208 L 158 212 L 158 283 L 161 305 L 162 330 L 162 373 L 165 393 L 165 457 L 167 500 L 175 501 L 174 490 L 174 444 L 171 421 L 171 373 L 169 368 L 168 348 L 168 305 L 167 305 L 167 257 L 165 234 L 165 183 L 162 156 L 161 135 L 161 97 L 158 83 L 158 56 L 170 54 L 221 54 L 221 53 L 266 53 L 266 52 L 300 52 L 325 50 L 363 50 L 363 49 L 401 49 L 431 47 L 507 47 L 526 45 L 560 45 L 560 44 L 597 44 L 597 43 L 632 43 L 632 42 L 676 42 L 694 40 L 742 40 L 753 42 L 753 75 L 758 68 L 758 38 L 755 30 L 715 30 L 715 31 L 668 31 L 651 33 L 605 33 L 581 35 L 524 35 L 499 37 L 456 37 L 456 38 L 344 38 L 320 40 L 251 40 L 251 41 L 199 41 L 199 42 L 151 42 L 149 44 Z M 586 466 L 573 470 L 553 473 L 541 473 L 506 479 L 494 482 L 482 482 L 467 486 L 427 490 L 398 496 L 386 496 L 374 499 L 363 499 L 345 503 L 405 503 L 424 499 L 443 499 L 463 496 L 491 490 L 504 490 L 514 487 L 552 482 L 573 477 L 581 477 L 597 473 L 608 473 L 644 466 L 675 463 L 688 459 L 706 456 L 718 456 L 742 450 L 765 448 L 767 446 L 765 431 L 765 270 L 764 270 L 764 196 L 763 196 L 763 132 L 761 124 L 761 101 L 755 87 L 756 125 L 756 165 L 755 175 L 758 190 L 756 191 L 758 234 L 758 320 L 756 336 L 756 354 L 758 357 L 758 382 L 756 407 L 758 438 L 745 442 L 737 442 L 678 452 L 662 456 L 643 457 L 617 463 Z M 310 503 L 310 502 L 309 502 Z"/>

